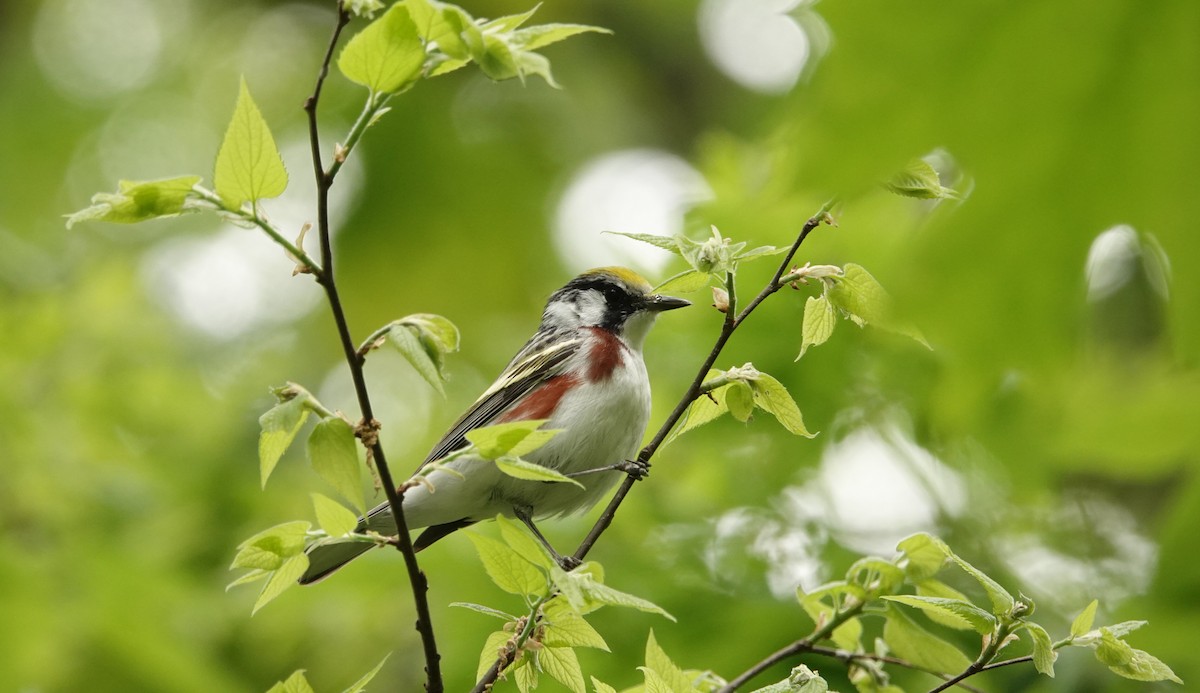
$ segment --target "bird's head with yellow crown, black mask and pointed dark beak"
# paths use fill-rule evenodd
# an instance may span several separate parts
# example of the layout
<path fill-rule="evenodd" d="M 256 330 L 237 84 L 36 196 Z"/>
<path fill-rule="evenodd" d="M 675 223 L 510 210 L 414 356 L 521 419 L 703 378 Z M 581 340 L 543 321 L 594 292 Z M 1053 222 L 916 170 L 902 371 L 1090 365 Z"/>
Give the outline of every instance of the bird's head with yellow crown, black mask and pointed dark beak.
<path fill-rule="evenodd" d="M 558 330 L 602 327 L 640 348 L 654 318 L 690 301 L 653 293 L 650 283 L 625 267 L 588 270 L 554 291 L 542 325 Z"/>

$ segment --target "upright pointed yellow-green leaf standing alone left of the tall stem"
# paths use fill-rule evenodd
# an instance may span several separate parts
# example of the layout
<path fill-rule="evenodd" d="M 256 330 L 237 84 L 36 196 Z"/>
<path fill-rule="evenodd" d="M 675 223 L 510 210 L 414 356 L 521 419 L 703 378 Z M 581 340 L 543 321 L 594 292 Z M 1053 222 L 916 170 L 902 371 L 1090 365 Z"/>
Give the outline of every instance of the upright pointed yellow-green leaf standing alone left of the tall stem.
<path fill-rule="evenodd" d="M 217 152 L 212 185 L 230 210 L 241 209 L 246 201 L 253 204 L 277 197 L 288 187 L 288 171 L 283 168 L 280 150 L 275 147 L 275 138 L 250 96 L 245 78 L 229 128 L 221 141 L 221 151 Z"/>

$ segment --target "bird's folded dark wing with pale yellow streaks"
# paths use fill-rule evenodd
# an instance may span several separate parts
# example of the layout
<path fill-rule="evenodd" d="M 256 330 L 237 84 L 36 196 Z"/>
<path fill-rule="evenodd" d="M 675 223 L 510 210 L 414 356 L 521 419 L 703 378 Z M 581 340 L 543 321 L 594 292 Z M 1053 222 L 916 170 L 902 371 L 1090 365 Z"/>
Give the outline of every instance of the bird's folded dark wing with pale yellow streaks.
<path fill-rule="evenodd" d="M 582 345 L 583 337 L 578 335 L 550 332 L 534 336 L 512 357 L 496 382 L 433 446 L 421 466 L 466 447 L 468 430 L 493 423 L 504 411 L 518 404 L 539 385 L 556 375 L 562 375 L 566 370 L 566 361 L 577 354 Z"/>

